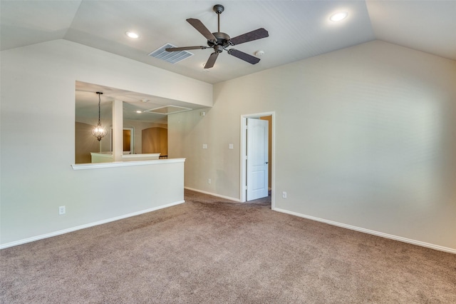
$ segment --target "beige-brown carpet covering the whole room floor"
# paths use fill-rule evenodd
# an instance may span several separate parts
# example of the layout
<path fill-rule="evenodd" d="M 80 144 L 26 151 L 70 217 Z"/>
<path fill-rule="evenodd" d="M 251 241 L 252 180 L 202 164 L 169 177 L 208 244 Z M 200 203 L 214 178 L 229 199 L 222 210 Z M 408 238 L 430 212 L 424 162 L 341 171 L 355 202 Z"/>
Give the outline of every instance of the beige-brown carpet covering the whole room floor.
<path fill-rule="evenodd" d="M 186 191 L 0 250 L 1 303 L 456 303 L 456 255 Z"/>

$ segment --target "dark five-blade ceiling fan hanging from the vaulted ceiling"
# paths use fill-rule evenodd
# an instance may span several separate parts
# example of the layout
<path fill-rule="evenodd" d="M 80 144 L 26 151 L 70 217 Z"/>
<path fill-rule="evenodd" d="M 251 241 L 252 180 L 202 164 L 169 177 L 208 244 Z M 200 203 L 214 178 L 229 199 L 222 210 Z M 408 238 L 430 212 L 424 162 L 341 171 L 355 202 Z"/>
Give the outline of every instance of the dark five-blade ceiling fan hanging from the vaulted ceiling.
<path fill-rule="evenodd" d="M 211 33 L 204 24 L 199 21 L 199 19 L 187 19 L 187 22 L 192 25 L 202 36 L 207 39 L 207 46 L 182 46 L 180 48 L 168 48 L 166 51 L 186 51 L 194 49 L 214 49 L 214 53 L 209 56 L 204 69 L 210 69 L 214 66 L 217 56 L 222 53 L 223 50 L 227 51 L 228 54 L 247 61 L 249 64 L 258 64 L 259 58 L 239 51 L 237 49 L 227 49 L 229 46 L 236 46 L 238 44 L 244 44 L 245 42 L 254 41 L 261 38 L 266 38 L 269 36 L 266 29 L 260 28 L 254 31 L 249 31 L 249 33 L 230 38 L 228 34 L 222 33 L 220 31 L 220 14 L 224 11 L 224 6 L 222 4 L 216 4 L 212 8 L 217 14 L 218 19 L 218 29 L 215 33 Z"/>

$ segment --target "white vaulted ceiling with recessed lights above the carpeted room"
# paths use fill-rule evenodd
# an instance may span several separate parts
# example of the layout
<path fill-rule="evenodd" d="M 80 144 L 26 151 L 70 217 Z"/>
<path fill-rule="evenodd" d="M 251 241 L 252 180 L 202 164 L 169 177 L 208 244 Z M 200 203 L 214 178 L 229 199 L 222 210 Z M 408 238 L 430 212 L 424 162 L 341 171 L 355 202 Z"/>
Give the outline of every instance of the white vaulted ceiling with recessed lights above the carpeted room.
<path fill-rule="evenodd" d="M 217 31 L 212 7 L 222 4 L 220 31 L 234 37 L 264 28 L 269 37 L 239 44 L 252 65 L 223 51 L 203 69 L 212 49 L 170 64 L 148 56 L 167 43 L 204 46 L 186 19 Z M 311 56 L 380 39 L 456 60 L 456 1 L 0 1 L 1 50 L 66 39 L 177 74 L 217 83 Z M 340 22 L 329 20 L 338 11 Z M 140 37 L 131 39 L 126 31 Z"/>

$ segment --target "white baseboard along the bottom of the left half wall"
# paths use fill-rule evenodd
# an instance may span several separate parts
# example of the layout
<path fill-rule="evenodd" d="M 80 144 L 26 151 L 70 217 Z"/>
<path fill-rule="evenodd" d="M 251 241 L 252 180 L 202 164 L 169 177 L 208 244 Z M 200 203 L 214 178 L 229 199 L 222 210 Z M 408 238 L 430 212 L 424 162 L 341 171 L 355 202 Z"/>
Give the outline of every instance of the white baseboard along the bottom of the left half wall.
<path fill-rule="evenodd" d="M 182 201 L 177 201 L 177 202 L 174 202 L 174 203 L 168 203 L 166 205 L 162 205 L 162 206 L 158 206 L 158 207 L 154 207 L 154 208 L 149 208 L 149 209 L 145 209 L 145 210 L 137 211 L 137 212 L 133 212 L 133 213 L 124 214 L 123 216 L 116 216 L 114 218 L 107 218 L 107 219 L 102 220 L 102 221 L 88 223 L 88 224 L 84 224 L 84 225 L 81 225 L 81 226 L 76 226 L 76 227 L 67 228 L 67 229 L 63 229 L 63 230 L 58 230 L 58 231 L 54 231 L 54 232 L 46 233 L 46 234 L 42 234 L 42 235 L 36 235 L 36 236 L 31 237 L 31 238 L 24 238 L 22 240 L 15 240 L 14 242 L 11 242 L 11 243 L 1 244 L 0 245 L 0 250 L 4 249 L 4 248 L 13 247 L 13 246 L 16 246 L 16 245 L 30 243 L 30 242 L 33 242 L 35 240 L 42 240 L 43 238 L 51 238 L 51 237 L 56 236 L 56 235 L 70 233 L 70 232 L 73 232 L 73 231 L 76 231 L 76 230 L 81 230 L 81 229 L 84 229 L 84 228 L 89 228 L 89 227 L 93 227 L 93 226 L 102 225 L 102 224 L 105 224 L 105 223 L 110 223 L 110 222 L 113 222 L 113 221 L 122 220 L 123 218 L 130 218 L 132 216 L 139 216 L 140 214 L 143 214 L 143 213 L 148 213 L 148 212 L 151 212 L 151 211 L 157 211 L 157 210 L 160 210 L 160 209 L 163 209 L 163 208 L 168 208 L 168 207 L 171 207 L 171 206 L 179 205 L 181 203 L 185 203 L 185 201 L 182 200 Z"/>

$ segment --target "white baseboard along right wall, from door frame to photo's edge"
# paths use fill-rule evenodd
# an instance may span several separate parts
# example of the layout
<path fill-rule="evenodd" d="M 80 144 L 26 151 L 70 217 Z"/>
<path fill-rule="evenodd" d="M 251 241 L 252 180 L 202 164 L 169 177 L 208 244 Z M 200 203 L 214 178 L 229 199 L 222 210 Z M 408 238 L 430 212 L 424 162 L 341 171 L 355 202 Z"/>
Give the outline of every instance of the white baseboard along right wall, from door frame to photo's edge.
<path fill-rule="evenodd" d="M 307 219 L 312 220 L 312 221 L 326 223 L 326 224 L 333 225 L 333 226 L 338 226 L 338 227 L 347 228 L 347 229 L 350 229 L 350 230 L 356 230 L 356 231 L 360 231 L 360 232 L 363 232 L 363 233 L 368 233 L 368 234 L 372 234 L 372 235 L 381 236 L 383 238 L 390 238 L 391 240 L 399 240 L 400 242 L 404 242 L 404 243 L 410 243 L 410 244 L 413 244 L 413 245 L 418 245 L 418 246 L 422 246 L 422 247 L 426 247 L 426 248 L 431 248 L 431 249 L 435 249 L 435 250 L 445 251 L 447 253 L 455 253 L 456 254 L 456 249 L 447 248 L 447 247 L 443 247 L 443 246 L 440 246 L 440 245 L 434 245 L 434 244 L 430 244 L 430 243 L 425 243 L 425 242 L 421 242 L 420 240 L 412 240 L 410 238 L 403 238 L 401 236 L 392 235 L 392 234 L 388 234 L 388 233 L 382 233 L 382 232 L 378 232 L 378 231 L 375 231 L 375 230 L 369 230 L 369 229 L 360 228 L 360 227 L 351 226 L 351 225 L 346 225 L 346 224 L 338 223 L 338 222 L 334 222 L 334 221 L 328 221 L 328 220 L 324 220 L 323 218 L 316 218 L 314 216 L 306 216 L 306 215 L 301 214 L 301 213 L 296 213 L 296 212 L 293 212 L 293 211 L 287 211 L 287 210 L 280 209 L 280 208 L 274 208 L 273 210 L 277 211 L 277 212 L 281 212 L 281 213 L 290 214 L 291 216 L 298 216 L 299 218 L 307 218 Z"/>

